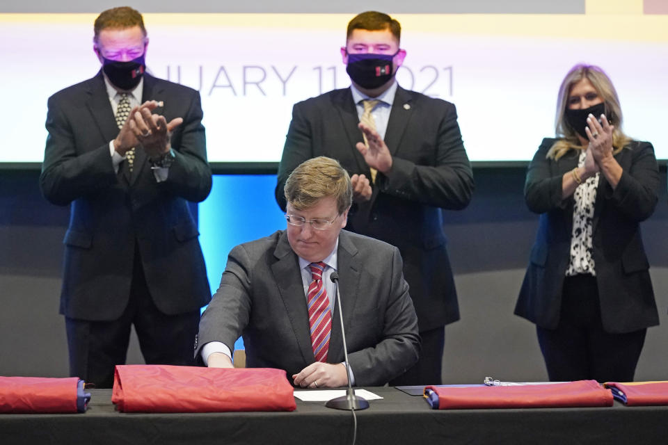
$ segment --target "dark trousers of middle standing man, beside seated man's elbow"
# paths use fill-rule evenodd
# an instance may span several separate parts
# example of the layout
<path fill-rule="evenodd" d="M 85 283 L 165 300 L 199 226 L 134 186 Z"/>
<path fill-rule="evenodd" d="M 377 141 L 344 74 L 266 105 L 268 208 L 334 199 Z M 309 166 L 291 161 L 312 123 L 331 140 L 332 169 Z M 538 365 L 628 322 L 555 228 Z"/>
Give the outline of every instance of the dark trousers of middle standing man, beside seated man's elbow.
<path fill-rule="evenodd" d="M 390 380 L 391 387 L 408 385 L 441 385 L 445 327 L 420 332 L 420 358 L 408 371 Z"/>

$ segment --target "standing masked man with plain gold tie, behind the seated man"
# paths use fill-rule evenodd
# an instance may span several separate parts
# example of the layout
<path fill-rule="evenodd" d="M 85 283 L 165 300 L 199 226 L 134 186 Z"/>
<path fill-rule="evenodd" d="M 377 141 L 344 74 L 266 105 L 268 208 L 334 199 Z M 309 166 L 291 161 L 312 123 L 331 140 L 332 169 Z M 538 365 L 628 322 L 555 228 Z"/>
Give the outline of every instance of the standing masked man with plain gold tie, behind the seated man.
<path fill-rule="evenodd" d="M 473 177 L 453 104 L 401 88 L 406 51 L 390 16 L 366 12 L 348 24 L 341 48 L 352 85 L 294 106 L 276 200 L 305 159 L 330 156 L 351 174 L 349 228 L 396 245 L 404 258 L 422 337 L 420 360 L 392 385 L 441 382 L 444 326 L 459 319 L 441 209 L 463 209 Z"/>

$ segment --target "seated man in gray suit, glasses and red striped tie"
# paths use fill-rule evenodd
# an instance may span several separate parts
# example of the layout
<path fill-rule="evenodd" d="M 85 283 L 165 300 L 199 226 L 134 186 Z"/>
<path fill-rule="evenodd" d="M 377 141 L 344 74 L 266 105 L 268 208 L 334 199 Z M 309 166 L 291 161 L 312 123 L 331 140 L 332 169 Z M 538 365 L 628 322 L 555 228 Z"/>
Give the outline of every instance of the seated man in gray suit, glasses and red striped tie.
<path fill-rule="evenodd" d="M 244 337 L 246 366 L 285 369 L 299 387 L 347 385 L 339 275 L 353 385 L 384 385 L 420 351 L 417 317 L 399 250 L 342 230 L 352 200 L 348 173 L 320 156 L 285 183 L 287 229 L 237 245 L 202 314 L 196 357 L 232 367 Z"/>

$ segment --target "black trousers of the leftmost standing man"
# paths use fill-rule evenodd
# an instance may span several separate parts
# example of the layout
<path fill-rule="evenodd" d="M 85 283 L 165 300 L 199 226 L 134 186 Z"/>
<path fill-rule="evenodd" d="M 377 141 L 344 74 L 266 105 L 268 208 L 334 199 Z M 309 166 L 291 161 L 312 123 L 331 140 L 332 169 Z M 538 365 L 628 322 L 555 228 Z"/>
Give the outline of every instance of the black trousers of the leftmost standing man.
<path fill-rule="evenodd" d="M 148 290 L 138 249 L 135 251 L 130 298 L 120 318 L 88 321 L 65 317 L 70 375 L 97 388 L 113 386 L 114 366 L 125 364 L 132 325 L 147 364 L 195 364 L 193 342 L 199 309 L 177 315 L 160 312 Z"/>

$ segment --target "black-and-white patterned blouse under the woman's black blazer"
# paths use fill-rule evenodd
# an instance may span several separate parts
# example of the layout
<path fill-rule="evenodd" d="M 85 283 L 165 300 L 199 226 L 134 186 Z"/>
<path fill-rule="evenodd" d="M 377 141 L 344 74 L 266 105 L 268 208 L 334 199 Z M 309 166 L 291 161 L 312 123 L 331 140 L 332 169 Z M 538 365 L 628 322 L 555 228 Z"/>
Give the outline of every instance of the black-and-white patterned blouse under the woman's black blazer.
<path fill-rule="evenodd" d="M 584 165 L 587 152 L 582 150 L 578 167 Z M 575 188 L 573 197 L 573 233 L 571 234 L 571 260 L 566 269 L 566 276 L 571 277 L 579 273 L 596 276 L 594 258 L 591 256 L 591 232 L 594 220 L 594 202 L 596 202 L 596 188 L 598 187 L 598 176 L 587 178 L 586 181 Z"/>

